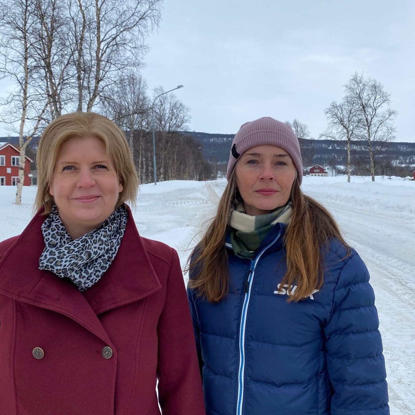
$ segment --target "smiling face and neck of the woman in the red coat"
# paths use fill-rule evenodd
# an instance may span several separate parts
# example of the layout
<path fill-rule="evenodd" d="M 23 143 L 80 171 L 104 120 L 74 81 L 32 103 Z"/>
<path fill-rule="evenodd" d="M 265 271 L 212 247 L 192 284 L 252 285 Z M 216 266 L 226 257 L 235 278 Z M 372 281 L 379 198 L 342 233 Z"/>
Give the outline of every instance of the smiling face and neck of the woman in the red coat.
<path fill-rule="evenodd" d="M 111 215 L 122 189 L 101 139 L 70 138 L 62 144 L 49 193 L 73 239 Z"/>

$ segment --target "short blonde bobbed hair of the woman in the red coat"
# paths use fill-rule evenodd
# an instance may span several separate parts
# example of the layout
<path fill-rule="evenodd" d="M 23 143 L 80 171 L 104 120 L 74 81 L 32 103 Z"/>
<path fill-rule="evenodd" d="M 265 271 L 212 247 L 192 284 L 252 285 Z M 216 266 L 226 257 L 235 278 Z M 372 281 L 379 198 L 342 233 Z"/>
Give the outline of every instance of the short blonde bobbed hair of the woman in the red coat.
<path fill-rule="evenodd" d="M 107 156 L 114 164 L 123 186 L 115 209 L 125 202 L 136 206 L 139 181 L 124 132 L 103 115 L 94 112 L 73 112 L 53 120 L 40 137 L 36 154 L 38 179 L 34 207 L 36 210 L 44 207 L 43 215 L 48 215 L 54 205 L 49 186 L 61 145 L 70 138 L 87 137 L 103 140 Z"/>

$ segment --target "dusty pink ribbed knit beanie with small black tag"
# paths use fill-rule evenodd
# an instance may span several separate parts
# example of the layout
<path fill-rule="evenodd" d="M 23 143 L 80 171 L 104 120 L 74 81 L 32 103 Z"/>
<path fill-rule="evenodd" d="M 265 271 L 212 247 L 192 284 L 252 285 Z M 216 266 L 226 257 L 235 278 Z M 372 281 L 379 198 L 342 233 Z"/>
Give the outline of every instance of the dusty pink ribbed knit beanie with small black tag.
<path fill-rule="evenodd" d="M 303 181 L 303 161 L 300 145 L 293 130 L 284 122 L 271 117 L 262 117 L 242 124 L 232 141 L 231 154 L 228 161 L 226 178 L 229 180 L 239 157 L 251 147 L 270 144 L 284 149 L 293 159 L 298 173 L 298 181 Z"/>

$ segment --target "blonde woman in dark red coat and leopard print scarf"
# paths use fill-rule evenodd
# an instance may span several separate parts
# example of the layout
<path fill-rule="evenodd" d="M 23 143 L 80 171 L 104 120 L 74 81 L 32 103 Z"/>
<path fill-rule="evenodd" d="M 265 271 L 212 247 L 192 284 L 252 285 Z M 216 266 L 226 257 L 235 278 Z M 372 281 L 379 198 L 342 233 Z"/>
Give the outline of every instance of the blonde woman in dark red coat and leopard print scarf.
<path fill-rule="evenodd" d="M 126 205 L 124 133 L 58 117 L 37 168 L 38 212 L 0 243 L 0 413 L 205 414 L 177 253 L 140 237 Z"/>

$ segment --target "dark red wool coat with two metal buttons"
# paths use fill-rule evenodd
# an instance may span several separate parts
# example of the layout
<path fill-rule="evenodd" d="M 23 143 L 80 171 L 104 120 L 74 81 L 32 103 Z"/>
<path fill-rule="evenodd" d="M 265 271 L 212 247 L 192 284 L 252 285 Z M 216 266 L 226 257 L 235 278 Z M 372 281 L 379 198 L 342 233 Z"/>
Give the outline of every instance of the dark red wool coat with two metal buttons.
<path fill-rule="evenodd" d="M 0 414 L 159 415 L 158 378 L 163 414 L 204 415 L 176 251 L 140 237 L 130 212 L 110 268 L 81 293 L 39 270 L 44 219 L 0 243 Z"/>

